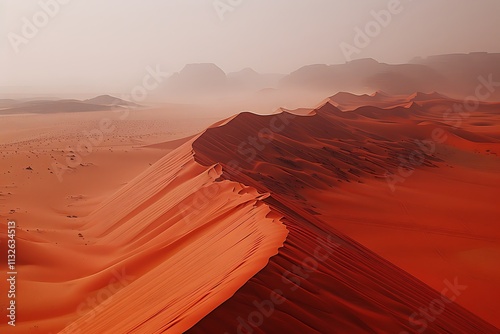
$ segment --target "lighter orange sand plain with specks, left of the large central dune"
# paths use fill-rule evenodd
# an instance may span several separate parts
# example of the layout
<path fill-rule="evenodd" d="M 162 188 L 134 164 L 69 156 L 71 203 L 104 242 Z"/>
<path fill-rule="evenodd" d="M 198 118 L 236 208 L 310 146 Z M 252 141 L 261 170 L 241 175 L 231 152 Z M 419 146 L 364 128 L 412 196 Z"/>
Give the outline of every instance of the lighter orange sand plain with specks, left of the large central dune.
<path fill-rule="evenodd" d="M 215 121 L 181 119 L 167 108 L 130 110 L 126 120 L 119 116 L 102 111 L 2 117 L 0 218 L 18 222 L 22 253 L 18 262 L 22 273 L 18 277 L 18 333 L 56 333 L 92 311 L 98 287 L 104 289 L 99 297 L 107 298 L 130 283 L 129 273 L 123 274 L 116 266 L 99 271 L 109 259 L 101 257 L 101 246 L 89 245 L 81 230 L 85 217 L 187 141 L 177 138 L 192 137 Z M 113 131 L 94 141 L 91 154 L 80 154 L 76 145 L 88 140 L 86 133 L 98 128 L 103 118 L 112 121 Z M 165 141 L 170 144 L 151 147 Z M 61 182 L 50 169 L 54 162 L 71 163 Z M 0 247 L 7 253 L 5 231 L 0 231 Z M 91 274 L 95 277 L 85 278 Z M 110 284 L 117 280 L 115 276 L 123 284 Z M 0 282 L 0 288 L 7 288 L 6 281 Z M 3 323 L 0 332 L 9 331 L 10 326 L 5 326 Z"/>

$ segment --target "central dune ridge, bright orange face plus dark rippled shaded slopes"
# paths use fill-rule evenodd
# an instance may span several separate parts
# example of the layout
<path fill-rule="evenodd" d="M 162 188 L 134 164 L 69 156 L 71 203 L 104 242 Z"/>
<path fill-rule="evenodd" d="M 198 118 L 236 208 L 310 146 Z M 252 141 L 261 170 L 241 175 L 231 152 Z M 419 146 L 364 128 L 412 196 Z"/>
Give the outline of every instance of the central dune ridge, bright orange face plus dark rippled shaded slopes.
<path fill-rule="evenodd" d="M 364 333 L 412 332 L 425 325 L 429 333 L 441 333 L 442 329 L 495 333 L 494 326 L 457 303 L 446 302 L 433 321 L 409 322 L 416 310 L 454 296 L 443 297 L 438 290 L 339 232 L 308 202 L 309 190 L 335 192 L 349 184 L 382 182 L 387 171 L 399 167 L 397 155 L 417 150 L 414 139 L 424 140 L 436 124 L 444 126 L 450 135 L 460 132 L 443 125 L 438 112 L 422 108 L 413 103 L 343 112 L 325 103 L 307 116 L 244 112 L 210 127 L 137 177 L 89 217 L 87 234 L 95 236 L 96 245 L 119 249 L 116 261 L 128 262 L 128 270 L 138 278 L 115 294 L 92 322 L 82 317 L 73 326 L 85 332 L 112 328 L 118 332 L 177 333 L 191 328 L 190 333 L 206 333 L 252 328 L 255 333 L 266 333 L 328 332 L 336 328 Z M 273 117 L 284 117 L 289 124 L 267 138 L 269 143 L 256 150 L 252 159 L 244 155 L 238 159 L 241 143 L 269 127 Z M 494 142 L 490 137 L 485 141 Z M 238 170 L 232 164 L 235 152 Z M 442 164 L 440 156 L 428 154 L 422 167 L 439 169 Z M 196 194 L 204 194 L 209 204 L 197 205 L 193 189 L 197 189 Z M 235 192 L 238 200 L 219 204 Z M 243 201 L 243 205 L 242 195 L 250 202 Z M 173 198 L 176 207 L 171 204 Z M 184 221 L 197 222 L 189 224 L 196 230 L 188 227 L 186 231 L 183 219 L 179 219 L 182 210 L 189 212 Z M 216 226 L 234 229 L 239 238 L 240 229 L 249 228 L 246 220 L 233 215 L 251 215 L 253 223 L 265 232 L 259 231 L 270 235 L 257 234 L 253 243 L 244 243 L 245 238 L 230 250 L 225 249 L 225 243 L 234 239 L 217 239 L 220 231 Z M 282 225 L 275 227 L 281 223 L 288 230 L 287 237 Z M 206 225 L 214 226 L 210 229 Z M 248 253 L 248 249 L 261 246 L 260 240 L 267 240 L 263 248 L 268 252 Z M 272 256 L 281 245 L 278 255 Z M 321 245 L 319 250 L 317 245 Z M 197 247 L 203 250 L 190 253 Z M 219 252 L 215 258 L 207 255 L 212 249 Z M 303 261 L 314 259 L 316 251 L 326 258 L 317 261 L 314 270 L 307 270 Z M 218 262 L 228 256 L 233 267 Z M 144 265 L 139 258 L 155 260 Z M 207 262 L 213 266 L 207 267 Z M 180 274 L 170 279 L 168 268 L 179 267 L 186 270 L 187 276 Z M 210 272 L 208 268 L 216 270 Z M 207 274 L 194 275 L 193 281 L 186 282 L 184 277 L 193 277 L 193 270 L 206 270 Z M 224 279 L 220 280 L 221 276 Z M 453 281 L 454 277 L 449 279 Z M 183 288 L 172 289 L 176 283 Z M 210 284 L 215 291 L 208 288 Z M 285 299 L 273 305 L 272 316 L 259 327 L 245 327 L 243 322 L 255 311 L 255 303 L 271 298 L 275 291 Z M 121 321 L 113 318 L 124 307 L 133 316 Z M 145 308 L 148 312 L 144 312 Z"/>

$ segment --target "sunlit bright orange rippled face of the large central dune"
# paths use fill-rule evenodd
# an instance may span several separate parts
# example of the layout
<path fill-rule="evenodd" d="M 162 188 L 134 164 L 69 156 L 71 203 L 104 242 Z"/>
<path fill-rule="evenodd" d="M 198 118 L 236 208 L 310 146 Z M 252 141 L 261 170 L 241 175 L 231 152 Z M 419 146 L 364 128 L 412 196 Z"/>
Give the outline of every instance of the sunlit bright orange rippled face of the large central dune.
<path fill-rule="evenodd" d="M 158 161 L 90 215 L 82 232 L 89 247 L 114 250 L 99 270 L 123 269 L 134 279 L 62 333 L 183 332 L 282 246 L 287 230 L 263 202 L 268 195 L 218 180 L 221 166 L 199 165 L 190 147 Z"/>

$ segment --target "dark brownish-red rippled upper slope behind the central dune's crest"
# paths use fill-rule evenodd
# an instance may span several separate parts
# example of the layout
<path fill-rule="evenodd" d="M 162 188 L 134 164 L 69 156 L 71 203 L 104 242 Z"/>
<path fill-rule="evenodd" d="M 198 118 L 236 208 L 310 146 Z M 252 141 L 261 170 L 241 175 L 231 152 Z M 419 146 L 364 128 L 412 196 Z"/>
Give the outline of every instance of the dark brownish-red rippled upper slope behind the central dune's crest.
<path fill-rule="evenodd" d="M 378 120 L 380 113 L 390 117 Z M 330 189 L 367 176 L 384 178 L 387 171 L 397 169 L 398 156 L 419 148 L 414 139 L 426 138 L 426 126 L 417 126 L 426 118 L 414 116 L 418 113 L 417 107 L 363 107 L 344 113 L 330 103 L 310 116 L 242 113 L 223 127 L 208 129 L 193 148 L 202 163 L 227 164 L 223 170 L 228 177 L 255 176 L 268 186 L 275 185 L 273 178 L 279 176 L 280 181 L 298 182 L 298 186 Z M 208 140 L 229 146 L 221 149 Z M 439 158 L 428 155 L 423 164 L 434 166 L 436 161 Z M 239 168 L 244 173 L 238 173 Z M 287 168 L 284 175 L 283 168 Z"/>

